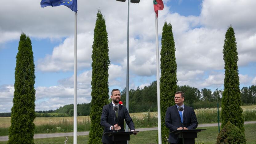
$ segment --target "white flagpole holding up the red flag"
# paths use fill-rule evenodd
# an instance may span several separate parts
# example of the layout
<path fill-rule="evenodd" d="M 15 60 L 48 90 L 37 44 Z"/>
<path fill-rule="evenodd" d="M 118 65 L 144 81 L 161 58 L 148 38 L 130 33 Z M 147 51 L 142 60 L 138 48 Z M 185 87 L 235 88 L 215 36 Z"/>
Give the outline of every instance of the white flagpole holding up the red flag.
<path fill-rule="evenodd" d="M 156 16 L 156 14 L 155 14 Z M 162 144 L 161 112 L 160 112 L 160 83 L 159 83 L 159 50 L 158 50 L 158 21 L 156 17 L 156 66 L 157 66 L 157 117 L 158 117 L 158 143 Z"/>

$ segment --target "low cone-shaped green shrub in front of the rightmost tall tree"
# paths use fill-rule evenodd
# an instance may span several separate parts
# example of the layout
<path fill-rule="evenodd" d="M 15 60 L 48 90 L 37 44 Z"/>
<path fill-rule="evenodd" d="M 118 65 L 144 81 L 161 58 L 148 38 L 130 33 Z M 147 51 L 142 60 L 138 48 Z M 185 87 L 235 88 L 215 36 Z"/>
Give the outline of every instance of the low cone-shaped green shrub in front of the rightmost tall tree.
<path fill-rule="evenodd" d="M 245 144 L 246 139 L 242 131 L 233 125 L 231 122 L 227 122 L 218 134 L 216 144 Z"/>

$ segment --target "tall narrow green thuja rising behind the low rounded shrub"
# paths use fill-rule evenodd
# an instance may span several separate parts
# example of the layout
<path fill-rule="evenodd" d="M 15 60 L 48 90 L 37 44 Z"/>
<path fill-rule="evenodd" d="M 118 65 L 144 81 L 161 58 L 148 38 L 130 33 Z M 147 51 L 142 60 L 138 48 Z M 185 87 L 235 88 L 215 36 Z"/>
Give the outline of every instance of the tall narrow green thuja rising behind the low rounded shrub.
<path fill-rule="evenodd" d="M 224 91 L 222 94 L 221 126 L 231 122 L 244 132 L 241 97 L 238 76 L 238 52 L 234 29 L 230 26 L 226 32 L 223 59 L 225 62 Z"/>

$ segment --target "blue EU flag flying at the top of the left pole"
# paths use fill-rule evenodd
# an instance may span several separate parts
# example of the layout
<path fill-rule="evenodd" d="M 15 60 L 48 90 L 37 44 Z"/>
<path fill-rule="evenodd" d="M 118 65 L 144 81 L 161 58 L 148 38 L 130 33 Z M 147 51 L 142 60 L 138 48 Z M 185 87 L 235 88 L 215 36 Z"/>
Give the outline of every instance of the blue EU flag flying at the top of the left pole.
<path fill-rule="evenodd" d="M 77 0 L 42 0 L 41 7 L 46 6 L 67 6 L 72 11 L 77 12 Z"/>

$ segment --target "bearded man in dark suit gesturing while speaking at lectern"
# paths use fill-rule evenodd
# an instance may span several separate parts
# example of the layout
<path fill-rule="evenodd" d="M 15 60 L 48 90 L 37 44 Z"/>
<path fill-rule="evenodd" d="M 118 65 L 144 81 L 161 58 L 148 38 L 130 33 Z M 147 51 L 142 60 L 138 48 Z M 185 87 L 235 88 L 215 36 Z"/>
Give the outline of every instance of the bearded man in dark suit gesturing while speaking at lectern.
<path fill-rule="evenodd" d="M 102 109 L 100 124 L 104 126 L 103 133 L 114 131 L 114 130 L 125 131 L 124 120 L 126 121 L 130 130 L 135 131 L 134 123 L 132 121 L 132 118 L 130 117 L 130 114 L 128 113 L 128 110 L 126 109 L 125 106 L 119 104 L 119 101 L 121 99 L 120 90 L 113 89 L 111 91 L 111 98 L 112 98 L 112 102 L 110 104 L 103 106 L 103 109 Z M 119 106 L 118 118 L 116 118 L 115 110 L 113 110 L 113 107 L 115 105 Z M 134 133 L 134 134 L 137 134 L 137 133 Z M 108 135 L 102 135 L 102 143 L 114 144 L 114 141 L 112 141 L 111 137 L 109 137 Z"/>

